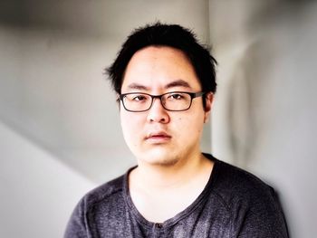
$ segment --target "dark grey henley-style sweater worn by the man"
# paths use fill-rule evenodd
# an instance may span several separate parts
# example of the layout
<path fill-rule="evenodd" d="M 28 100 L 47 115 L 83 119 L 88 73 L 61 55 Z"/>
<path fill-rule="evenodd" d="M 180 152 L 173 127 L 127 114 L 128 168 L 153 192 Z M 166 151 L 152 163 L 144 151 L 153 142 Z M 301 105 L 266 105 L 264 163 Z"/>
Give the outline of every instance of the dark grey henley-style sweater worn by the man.
<path fill-rule="evenodd" d="M 163 224 L 150 223 L 133 205 L 128 171 L 82 198 L 64 237 L 288 237 L 272 187 L 240 168 L 207 157 L 215 166 L 204 191 Z"/>

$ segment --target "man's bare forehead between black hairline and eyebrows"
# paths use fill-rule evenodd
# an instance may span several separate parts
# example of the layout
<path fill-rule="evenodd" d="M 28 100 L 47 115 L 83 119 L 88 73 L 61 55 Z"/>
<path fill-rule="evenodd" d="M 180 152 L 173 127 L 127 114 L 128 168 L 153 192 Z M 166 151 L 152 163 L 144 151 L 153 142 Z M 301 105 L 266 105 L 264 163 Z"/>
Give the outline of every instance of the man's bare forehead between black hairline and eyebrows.
<path fill-rule="evenodd" d="M 183 81 L 179 86 L 187 84 L 193 90 L 200 89 L 196 71 L 184 52 L 168 46 L 149 46 L 130 59 L 121 89 L 125 90 L 131 84 L 149 89 L 165 87 L 173 81 Z"/>

